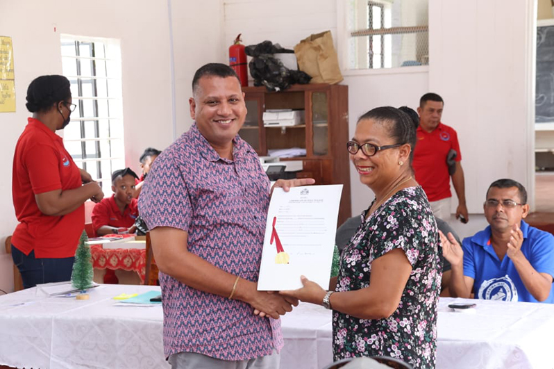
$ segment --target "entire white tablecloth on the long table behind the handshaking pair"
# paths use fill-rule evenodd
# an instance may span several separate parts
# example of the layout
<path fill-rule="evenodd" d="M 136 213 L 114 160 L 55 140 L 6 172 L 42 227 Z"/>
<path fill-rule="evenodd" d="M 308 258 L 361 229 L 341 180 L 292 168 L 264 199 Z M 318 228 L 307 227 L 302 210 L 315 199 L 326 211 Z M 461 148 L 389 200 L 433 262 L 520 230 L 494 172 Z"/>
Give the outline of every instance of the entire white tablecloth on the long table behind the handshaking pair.
<path fill-rule="evenodd" d="M 156 286 L 104 285 L 90 300 L 40 290 L 0 296 L 0 364 L 26 368 L 169 368 L 162 308 L 115 306 L 112 297 Z M 437 368 L 554 368 L 554 306 L 476 302 L 454 313 L 439 302 Z M 465 301 L 456 299 L 456 301 Z M 330 311 L 300 304 L 283 317 L 281 369 L 321 369 L 333 361 Z"/>

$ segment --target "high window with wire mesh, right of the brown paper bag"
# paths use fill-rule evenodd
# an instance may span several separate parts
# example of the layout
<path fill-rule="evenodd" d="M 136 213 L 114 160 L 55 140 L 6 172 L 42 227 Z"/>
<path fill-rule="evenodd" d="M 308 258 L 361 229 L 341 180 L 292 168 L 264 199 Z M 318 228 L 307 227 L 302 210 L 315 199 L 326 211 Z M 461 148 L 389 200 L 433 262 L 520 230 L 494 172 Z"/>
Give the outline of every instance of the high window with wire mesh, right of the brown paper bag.
<path fill-rule="evenodd" d="M 349 69 L 428 65 L 428 0 L 349 0 Z"/>

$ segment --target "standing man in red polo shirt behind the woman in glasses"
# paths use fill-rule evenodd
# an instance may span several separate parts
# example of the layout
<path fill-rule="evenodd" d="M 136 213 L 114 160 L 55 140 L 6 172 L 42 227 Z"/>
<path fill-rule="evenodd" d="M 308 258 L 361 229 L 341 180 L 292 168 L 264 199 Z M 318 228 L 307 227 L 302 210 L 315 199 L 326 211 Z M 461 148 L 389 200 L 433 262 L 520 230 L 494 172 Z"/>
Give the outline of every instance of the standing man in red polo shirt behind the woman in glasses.
<path fill-rule="evenodd" d="M 414 149 L 414 172 L 417 182 L 425 190 L 435 217 L 448 222 L 451 218 L 450 177 L 458 195 L 456 219 L 466 223 L 469 220 L 466 206 L 464 170 L 458 134 L 441 123 L 444 101 L 434 93 L 428 93 L 419 100 L 419 127 Z M 448 172 L 448 152 L 456 152 L 453 158 L 452 174 Z"/>

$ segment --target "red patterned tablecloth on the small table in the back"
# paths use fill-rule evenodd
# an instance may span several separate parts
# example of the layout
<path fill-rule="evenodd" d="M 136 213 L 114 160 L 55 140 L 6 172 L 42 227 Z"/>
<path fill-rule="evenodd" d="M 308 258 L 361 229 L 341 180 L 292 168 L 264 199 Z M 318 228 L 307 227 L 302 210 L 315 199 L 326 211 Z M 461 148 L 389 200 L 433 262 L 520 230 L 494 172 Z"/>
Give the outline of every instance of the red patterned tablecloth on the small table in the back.
<path fill-rule="evenodd" d="M 144 249 L 104 249 L 102 245 L 91 245 L 92 266 L 96 269 L 128 270 L 139 274 L 144 284 L 146 273 L 146 250 Z"/>

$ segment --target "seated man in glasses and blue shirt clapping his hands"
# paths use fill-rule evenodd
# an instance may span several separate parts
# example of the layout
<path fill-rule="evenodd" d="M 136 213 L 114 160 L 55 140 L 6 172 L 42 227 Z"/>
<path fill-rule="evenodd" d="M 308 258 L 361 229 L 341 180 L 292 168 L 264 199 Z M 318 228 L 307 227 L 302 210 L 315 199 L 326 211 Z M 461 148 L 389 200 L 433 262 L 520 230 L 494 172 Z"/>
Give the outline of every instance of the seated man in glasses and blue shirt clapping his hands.
<path fill-rule="evenodd" d="M 464 239 L 441 233 L 444 258 L 452 264 L 454 297 L 554 302 L 554 236 L 523 221 L 529 212 L 521 183 L 498 179 L 483 208 L 489 227 Z"/>

